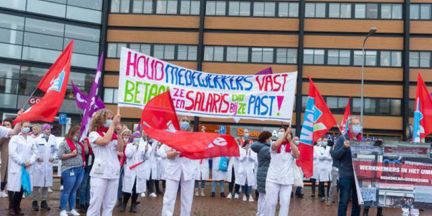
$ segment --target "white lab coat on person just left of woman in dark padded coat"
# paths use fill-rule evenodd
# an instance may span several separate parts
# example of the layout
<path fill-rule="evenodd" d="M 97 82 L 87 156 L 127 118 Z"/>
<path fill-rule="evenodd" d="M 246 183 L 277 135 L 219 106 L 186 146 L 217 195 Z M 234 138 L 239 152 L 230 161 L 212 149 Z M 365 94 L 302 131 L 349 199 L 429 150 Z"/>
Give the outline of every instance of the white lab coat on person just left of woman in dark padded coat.
<path fill-rule="evenodd" d="M 240 148 L 238 175 L 235 178 L 235 183 L 244 186 L 247 180 L 248 186 L 255 186 L 257 181 L 254 167 L 257 162 L 257 153 L 255 153 L 251 148 L 249 148 L 247 152 L 245 148 Z"/>

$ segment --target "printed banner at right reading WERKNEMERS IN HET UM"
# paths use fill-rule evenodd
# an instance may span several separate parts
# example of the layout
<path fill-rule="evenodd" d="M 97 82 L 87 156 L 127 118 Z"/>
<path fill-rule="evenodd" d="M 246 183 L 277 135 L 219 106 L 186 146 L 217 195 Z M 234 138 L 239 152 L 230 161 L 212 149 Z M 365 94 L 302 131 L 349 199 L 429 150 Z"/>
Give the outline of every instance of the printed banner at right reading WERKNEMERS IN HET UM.
<path fill-rule="evenodd" d="M 430 143 L 353 141 L 359 203 L 432 209 Z"/>

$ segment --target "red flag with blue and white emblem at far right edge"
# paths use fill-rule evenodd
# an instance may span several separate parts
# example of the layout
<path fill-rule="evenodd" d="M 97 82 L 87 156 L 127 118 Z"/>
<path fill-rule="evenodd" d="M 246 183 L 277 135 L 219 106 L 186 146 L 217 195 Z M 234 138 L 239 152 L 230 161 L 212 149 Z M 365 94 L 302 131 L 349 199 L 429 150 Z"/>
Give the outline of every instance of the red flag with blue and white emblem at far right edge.
<path fill-rule="evenodd" d="M 413 142 L 424 142 L 426 135 L 432 133 L 432 98 L 420 73 L 415 102 Z"/>

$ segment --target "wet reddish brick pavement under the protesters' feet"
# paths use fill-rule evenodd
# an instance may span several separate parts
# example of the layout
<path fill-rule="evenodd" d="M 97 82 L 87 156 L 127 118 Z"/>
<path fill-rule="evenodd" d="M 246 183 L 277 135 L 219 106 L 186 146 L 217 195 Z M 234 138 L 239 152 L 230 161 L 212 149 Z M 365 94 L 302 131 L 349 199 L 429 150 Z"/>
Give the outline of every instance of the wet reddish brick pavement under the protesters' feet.
<path fill-rule="evenodd" d="M 59 215 L 59 197 L 60 191 L 58 190 L 58 182 L 54 183 L 53 193 L 50 193 L 48 204 L 51 207 L 50 211 L 32 211 L 31 198 L 23 199 L 21 202 L 21 207 L 25 215 L 32 216 L 49 216 L 49 215 Z M 217 196 L 210 197 L 210 184 L 206 184 L 206 197 L 194 197 L 194 203 L 192 206 L 192 214 L 196 216 L 207 216 L 207 215 L 255 215 L 257 210 L 256 201 L 254 203 L 244 202 L 241 200 L 242 196 L 240 196 L 239 200 L 227 200 L 226 198 L 221 198 L 217 192 Z M 227 189 L 226 189 L 227 191 Z M 304 198 L 292 198 L 290 205 L 290 216 L 302 215 L 302 216 L 327 216 L 327 215 L 337 215 L 337 204 L 333 204 L 332 206 L 326 206 L 324 203 L 320 201 L 318 197 L 311 197 L 311 190 L 306 188 L 303 190 Z M 30 195 L 31 196 L 31 195 Z M 179 198 L 177 198 L 177 202 L 175 205 L 175 213 L 174 215 L 180 214 L 180 203 Z M 118 212 L 118 209 L 114 209 L 113 215 L 115 216 L 141 216 L 141 215 L 161 215 L 162 211 L 162 199 L 163 196 L 160 195 L 157 198 L 138 198 L 141 201 L 141 204 L 138 206 L 138 213 L 130 213 L 130 212 Z M 129 206 L 127 210 L 129 210 Z M 1 198 L 0 199 L 0 216 L 8 215 L 8 199 Z M 349 209 L 351 207 L 349 206 Z M 396 208 L 385 208 L 383 210 L 385 216 L 396 216 L 402 215 L 402 211 Z M 83 214 L 81 214 L 83 215 Z M 347 215 L 350 215 L 349 213 Z M 372 208 L 369 212 L 369 215 L 376 215 L 376 208 Z M 432 216 L 432 211 L 421 211 L 421 216 Z"/>

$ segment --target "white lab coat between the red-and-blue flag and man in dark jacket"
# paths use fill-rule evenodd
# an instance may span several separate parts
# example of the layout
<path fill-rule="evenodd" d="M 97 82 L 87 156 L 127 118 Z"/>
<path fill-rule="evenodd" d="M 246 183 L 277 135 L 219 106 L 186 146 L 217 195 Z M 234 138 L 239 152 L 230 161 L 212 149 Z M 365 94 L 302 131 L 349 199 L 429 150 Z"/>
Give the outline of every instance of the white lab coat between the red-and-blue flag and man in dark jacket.
<path fill-rule="evenodd" d="M 330 181 L 332 158 L 330 155 L 330 146 L 325 148 L 322 146 L 314 147 L 314 176 L 318 182 Z"/>

